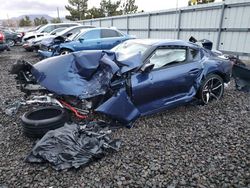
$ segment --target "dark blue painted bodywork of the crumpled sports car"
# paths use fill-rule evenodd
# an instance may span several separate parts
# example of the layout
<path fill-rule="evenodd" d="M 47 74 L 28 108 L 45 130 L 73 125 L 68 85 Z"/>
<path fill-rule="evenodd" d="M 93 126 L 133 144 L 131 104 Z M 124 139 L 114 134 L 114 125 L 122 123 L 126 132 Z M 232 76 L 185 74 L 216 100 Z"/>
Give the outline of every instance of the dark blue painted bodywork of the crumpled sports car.
<path fill-rule="evenodd" d="M 133 40 L 132 40 L 133 41 Z M 81 51 L 43 60 L 33 66 L 36 80 L 58 95 L 80 99 L 105 96 L 95 109 L 122 123 L 192 101 L 209 74 L 229 81 L 232 65 L 196 44 L 184 41 L 140 41 L 147 43 L 144 53 L 119 54 L 116 51 Z M 199 50 L 199 60 L 141 72 L 150 51 L 168 46 Z"/>

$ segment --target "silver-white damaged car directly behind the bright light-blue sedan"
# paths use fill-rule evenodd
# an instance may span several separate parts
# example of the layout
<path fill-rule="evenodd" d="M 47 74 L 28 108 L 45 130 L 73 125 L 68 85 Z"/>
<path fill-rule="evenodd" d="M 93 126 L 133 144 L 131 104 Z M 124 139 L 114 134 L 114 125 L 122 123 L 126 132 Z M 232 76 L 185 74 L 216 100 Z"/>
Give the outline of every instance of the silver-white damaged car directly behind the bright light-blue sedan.
<path fill-rule="evenodd" d="M 94 28 L 90 25 L 72 26 L 69 28 L 58 28 L 43 37 L 38 37 L 32 41 L 33 46 L 36 50 L 42 48 L 42 50 L 48 50 L 50 46 L 64 42 L 70 35 L 79 33 L 81 29 Z M 61 31 L 59 31 L 61 30 Z"/>

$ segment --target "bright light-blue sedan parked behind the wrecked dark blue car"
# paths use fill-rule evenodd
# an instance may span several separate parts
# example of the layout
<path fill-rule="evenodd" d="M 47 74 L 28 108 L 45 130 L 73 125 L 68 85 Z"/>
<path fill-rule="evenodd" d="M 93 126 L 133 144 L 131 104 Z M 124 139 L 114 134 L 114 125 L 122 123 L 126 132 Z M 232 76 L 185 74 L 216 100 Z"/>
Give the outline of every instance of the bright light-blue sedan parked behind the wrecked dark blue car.
<path fill-rule="evenodd" d="M 134 37 L 111 28 L 82 29 L 80 33 L 70 36 L 69 41 L 54 45 L 50 51 L 40 50 L 38 53 L 47 58 L 81 50 L 109 50 L 132 38 Z"/>

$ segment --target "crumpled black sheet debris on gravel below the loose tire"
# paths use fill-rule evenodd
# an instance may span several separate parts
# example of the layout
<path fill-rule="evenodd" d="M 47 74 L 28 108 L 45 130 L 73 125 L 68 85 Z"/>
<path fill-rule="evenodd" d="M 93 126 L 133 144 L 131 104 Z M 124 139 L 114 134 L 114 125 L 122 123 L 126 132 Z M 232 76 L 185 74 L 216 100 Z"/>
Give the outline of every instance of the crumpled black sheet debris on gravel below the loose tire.
<path fill-rule="evenodd" d="M 25 161 L 49 162 L 56 170 L 86 166 L 109 152 L 119 150 L 121 141 L 109 138 L 111 132 L 103 122 L 65 124 L 45 134 Z"/>

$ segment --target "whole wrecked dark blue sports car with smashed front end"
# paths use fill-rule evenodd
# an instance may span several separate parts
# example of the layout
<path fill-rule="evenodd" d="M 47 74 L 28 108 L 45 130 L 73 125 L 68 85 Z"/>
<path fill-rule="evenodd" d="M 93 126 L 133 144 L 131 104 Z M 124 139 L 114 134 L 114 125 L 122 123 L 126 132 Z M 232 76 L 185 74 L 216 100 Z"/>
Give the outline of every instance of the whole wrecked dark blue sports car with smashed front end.
<path fill-rule="evenodd" d="M 219 100 L 232 72 L 220 55 L 193 42 L 133 39 L 110 51 L 74 52 L 35 65 L 21 61 L 11 73 L 26 93 L 52 93 L 129 125 L 194 99 Z"/>

